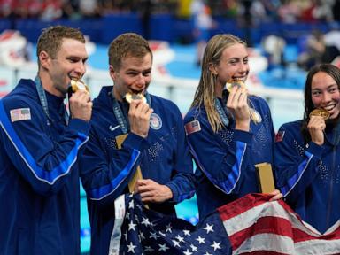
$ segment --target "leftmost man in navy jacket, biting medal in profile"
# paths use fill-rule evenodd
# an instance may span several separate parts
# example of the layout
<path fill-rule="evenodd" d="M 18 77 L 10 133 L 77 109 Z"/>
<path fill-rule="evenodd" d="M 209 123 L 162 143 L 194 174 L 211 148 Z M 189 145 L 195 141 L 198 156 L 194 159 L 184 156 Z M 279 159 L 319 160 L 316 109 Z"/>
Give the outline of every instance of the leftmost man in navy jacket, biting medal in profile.
<path fill-rule="evenodd" d="M 21 79 L 0 101 L 1 254 L 80 254 L 79 172 L 92 103 L 71 80 L 85 73 L 84 36 L 49 27 L 37 43 L 35 81 Z"/>

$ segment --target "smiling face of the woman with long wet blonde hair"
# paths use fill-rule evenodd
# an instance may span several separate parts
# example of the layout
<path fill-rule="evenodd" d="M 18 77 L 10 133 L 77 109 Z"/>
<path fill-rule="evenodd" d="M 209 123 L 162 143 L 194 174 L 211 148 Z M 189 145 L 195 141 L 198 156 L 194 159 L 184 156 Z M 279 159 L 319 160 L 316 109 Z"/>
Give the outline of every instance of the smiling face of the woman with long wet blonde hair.
<path fill-rule="evenodd" d="M 216 91 L 229 80 L 245 81 L 249 73 L 248 52 L 244 44 L 236 43 L 223 50 L 218 65 L 212 66 L 217 75 Z"/>

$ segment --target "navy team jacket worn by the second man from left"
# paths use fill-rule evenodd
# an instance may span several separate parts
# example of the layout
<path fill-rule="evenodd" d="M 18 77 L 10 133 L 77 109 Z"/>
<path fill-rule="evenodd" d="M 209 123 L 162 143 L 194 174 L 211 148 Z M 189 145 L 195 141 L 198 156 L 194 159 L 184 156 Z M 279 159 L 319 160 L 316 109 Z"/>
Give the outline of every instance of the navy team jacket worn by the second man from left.
<path fill-rule="evenodd" d="M 89 143 L 81 159 L 81 181 L 88 195 L 91 254 L 108 254 L 114 223 L 114 199 L 128 192 L 128 181 L 140 165 L 144 179 L 166 184 L 172 201 L 151 204 L 150 209 L 173 214 L 174 204 L 193 196 L 192 159 L 182 115 L 177 106 L 151 95 L 151 128 L 147 139 L 128 134 L 122 149 L 115 137 L 122 135 L 112 110 L 112 86 L 94 100 Z M 128 112 L 125 104 L 120 104 Z M 127 116 L 126 116 L 127 117 Z"/>

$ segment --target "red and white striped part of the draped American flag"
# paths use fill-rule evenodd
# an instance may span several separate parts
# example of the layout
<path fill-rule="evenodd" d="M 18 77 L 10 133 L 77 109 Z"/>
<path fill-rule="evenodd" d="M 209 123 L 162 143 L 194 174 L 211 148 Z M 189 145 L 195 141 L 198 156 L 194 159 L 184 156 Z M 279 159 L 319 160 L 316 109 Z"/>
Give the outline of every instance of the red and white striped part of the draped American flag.
<path fill-rule="evenodd" d="M 340 254 L 340 220 L 322 235 L 282 200 L 269 199 L 250 194 L 218 209 L 233 254 Z"/>

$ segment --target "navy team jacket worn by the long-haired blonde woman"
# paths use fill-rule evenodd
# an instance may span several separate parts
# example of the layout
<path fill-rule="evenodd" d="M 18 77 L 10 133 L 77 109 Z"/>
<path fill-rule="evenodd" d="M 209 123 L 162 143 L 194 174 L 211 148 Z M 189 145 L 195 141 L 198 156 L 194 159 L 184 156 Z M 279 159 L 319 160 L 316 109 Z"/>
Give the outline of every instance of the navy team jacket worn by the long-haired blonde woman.
<path fill-rule="evenodd" d="M 254 165 L 273 163 L 274 128 L 269 107 L 260 97 L 251 96 L 249 100 L 262 119 L 259 124 L 251 121 L 250 132 L 236 130 L 229 118 L 229 126 L 214 133 L 204 106 L 191 108 L 184 118 L 190 151 L 197 163 L 201 219 L 220 205 L 259 192 Z"/>

